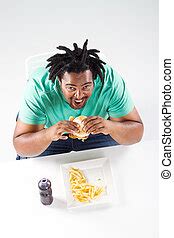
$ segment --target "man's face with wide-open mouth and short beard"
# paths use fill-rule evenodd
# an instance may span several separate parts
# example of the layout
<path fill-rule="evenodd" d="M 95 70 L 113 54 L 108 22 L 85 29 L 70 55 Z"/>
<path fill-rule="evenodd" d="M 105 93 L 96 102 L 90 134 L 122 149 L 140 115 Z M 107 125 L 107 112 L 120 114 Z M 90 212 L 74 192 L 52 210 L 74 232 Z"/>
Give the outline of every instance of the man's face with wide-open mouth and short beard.
<path fill-rule="evenodd" d="M 90 70 L 81 73 L 65 72 L 60 86 L 70 106 L 74 109 L 80 109 L 84 107 L 92 94 L 94 88 L 92 73 Z"/>

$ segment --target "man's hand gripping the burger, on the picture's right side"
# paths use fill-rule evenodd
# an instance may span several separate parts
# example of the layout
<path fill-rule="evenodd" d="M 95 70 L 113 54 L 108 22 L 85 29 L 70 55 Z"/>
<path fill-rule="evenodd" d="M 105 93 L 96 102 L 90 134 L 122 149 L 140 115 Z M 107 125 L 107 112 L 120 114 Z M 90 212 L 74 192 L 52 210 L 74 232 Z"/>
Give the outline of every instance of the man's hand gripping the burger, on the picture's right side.
<path fill-rule="evenodd" d="M 109 134 L 109 121 L 99 117 L 99 116 L 90 116 L 83 120 L 84 130 L 87 133 L 99 134 L 103 133 L 105 135 Z"/>

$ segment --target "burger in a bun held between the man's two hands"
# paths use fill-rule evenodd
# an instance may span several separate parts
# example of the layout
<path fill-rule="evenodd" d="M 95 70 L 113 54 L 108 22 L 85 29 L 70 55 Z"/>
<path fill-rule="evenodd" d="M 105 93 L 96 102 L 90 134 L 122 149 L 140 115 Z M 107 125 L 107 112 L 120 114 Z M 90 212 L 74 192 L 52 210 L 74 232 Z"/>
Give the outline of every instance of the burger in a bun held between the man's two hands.
<path fill-rule="evenodd" d="M 83 120 L 87 118 L 86 116 L 78 116 L 76 118 L 70 117 L 69 121 L 74 121 L 79 125 L 79 131 L 80 132 L 74 132 L 73 134 L 69 134 L 69 137 L 72 139 L 79 139 L 79 140 L 86 140 L 89 136 L 89 133 L 86 133 L 86 131 L 83 129 Z"/>

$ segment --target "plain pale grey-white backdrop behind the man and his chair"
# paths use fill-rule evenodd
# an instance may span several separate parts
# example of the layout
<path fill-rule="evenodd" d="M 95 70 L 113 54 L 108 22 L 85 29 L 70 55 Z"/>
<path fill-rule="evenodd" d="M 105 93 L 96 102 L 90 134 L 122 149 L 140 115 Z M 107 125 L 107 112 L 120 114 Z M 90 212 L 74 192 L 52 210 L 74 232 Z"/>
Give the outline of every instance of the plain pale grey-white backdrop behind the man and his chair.
<path fill-rule="evenodd" d="M 125 79 L 145 124 L 158 139 L 158 1 L 6 1 L 0 8 L 0 160 L 15 158 L 12 135 L 26 82 L 27 57 L 89 39 Z"/>

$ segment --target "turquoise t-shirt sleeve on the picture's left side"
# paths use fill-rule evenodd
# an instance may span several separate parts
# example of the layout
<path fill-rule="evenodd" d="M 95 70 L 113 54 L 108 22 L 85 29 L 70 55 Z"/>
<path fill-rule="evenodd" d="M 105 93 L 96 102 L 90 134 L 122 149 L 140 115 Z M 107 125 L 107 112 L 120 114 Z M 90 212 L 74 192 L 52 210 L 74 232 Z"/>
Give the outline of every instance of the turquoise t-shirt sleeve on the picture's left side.
<path fill-rule="evenodd" d="M 26 124 L 40 125 L 46 123 L 45 110 L 41 93 L 34 79 L 27 82 L 19 110 L 19 119 Z"/>

